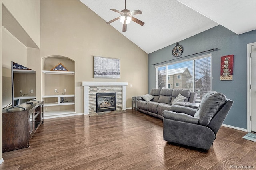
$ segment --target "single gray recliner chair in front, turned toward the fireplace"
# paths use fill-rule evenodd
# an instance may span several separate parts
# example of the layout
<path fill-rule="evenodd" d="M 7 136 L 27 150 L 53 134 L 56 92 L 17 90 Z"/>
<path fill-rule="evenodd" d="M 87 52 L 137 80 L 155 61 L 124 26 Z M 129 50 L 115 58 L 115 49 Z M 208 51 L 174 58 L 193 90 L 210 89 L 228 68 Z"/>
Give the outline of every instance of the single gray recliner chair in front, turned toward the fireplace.
<path fill-rule="evenodd" d="M 172 105 L 163 111 L 164 140 L 210 149 L 233 101 L 216 91 L 206 93 L 199 108 Z"/>

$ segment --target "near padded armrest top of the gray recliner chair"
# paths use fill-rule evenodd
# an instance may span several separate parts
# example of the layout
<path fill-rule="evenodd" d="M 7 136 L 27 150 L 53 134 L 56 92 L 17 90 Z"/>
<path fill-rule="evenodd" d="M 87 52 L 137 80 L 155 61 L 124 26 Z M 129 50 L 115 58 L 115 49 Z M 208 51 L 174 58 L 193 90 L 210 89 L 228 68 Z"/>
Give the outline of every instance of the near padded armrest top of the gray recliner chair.
<path fill-rule="evenodd" d="M 198 117 L 192 117 L 185 113 L 177 113 L 173 111 L 163 111 L 163 117 L 164 119 L 170 119 L 174 121 L 181 121 L 181 122 L 187 122 L 187 123 L 193 123 L 193 124 L 198 124 L 199 122 Z"/>

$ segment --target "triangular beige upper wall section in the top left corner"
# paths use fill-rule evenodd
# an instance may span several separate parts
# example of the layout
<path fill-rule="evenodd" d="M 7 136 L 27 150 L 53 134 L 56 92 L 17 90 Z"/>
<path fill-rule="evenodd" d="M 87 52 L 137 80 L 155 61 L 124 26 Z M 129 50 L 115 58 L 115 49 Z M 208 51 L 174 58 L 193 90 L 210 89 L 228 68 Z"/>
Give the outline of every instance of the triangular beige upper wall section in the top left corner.
<path fill-rule="evenodd" d="M 3 0 L 2 3 L 40 47 L 40 0 Z"/>

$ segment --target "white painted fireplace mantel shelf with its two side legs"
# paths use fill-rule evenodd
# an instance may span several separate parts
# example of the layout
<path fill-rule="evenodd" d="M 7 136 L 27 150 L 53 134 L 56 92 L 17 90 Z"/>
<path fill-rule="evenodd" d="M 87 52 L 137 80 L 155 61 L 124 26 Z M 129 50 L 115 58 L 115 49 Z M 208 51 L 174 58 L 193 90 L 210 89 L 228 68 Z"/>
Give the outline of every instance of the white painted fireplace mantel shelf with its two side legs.
<path fill-rule="evenodd" d="M 84 115 L 89 114 L 89 86 L 122 86 L 122 110 L 126 110 L 126 86 L 128 82 L 82 81 L 84 86 Z"/>

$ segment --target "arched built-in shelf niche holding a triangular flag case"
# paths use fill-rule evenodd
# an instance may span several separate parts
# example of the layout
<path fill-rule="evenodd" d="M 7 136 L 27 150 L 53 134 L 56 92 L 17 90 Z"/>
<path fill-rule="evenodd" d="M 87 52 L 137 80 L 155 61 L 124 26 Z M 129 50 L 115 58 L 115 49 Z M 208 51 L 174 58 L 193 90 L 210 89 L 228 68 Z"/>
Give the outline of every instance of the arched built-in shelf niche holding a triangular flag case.
<path fill-rule="evenodd" d="M 53 71 L 61 63 L 68 71 Z M 63 68 L 60 65 L 60 68 Z M 44 118 L 63 117 L 75 112 L 75 62 L 64 56 L 42 58 L 42 100 Z M 57 89 L 57 91 L 55 91 Z M 64 89 L 66 91 L 64 91 Z"/>

